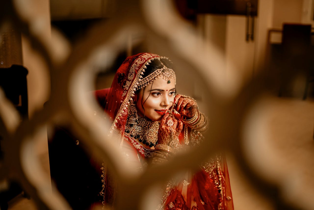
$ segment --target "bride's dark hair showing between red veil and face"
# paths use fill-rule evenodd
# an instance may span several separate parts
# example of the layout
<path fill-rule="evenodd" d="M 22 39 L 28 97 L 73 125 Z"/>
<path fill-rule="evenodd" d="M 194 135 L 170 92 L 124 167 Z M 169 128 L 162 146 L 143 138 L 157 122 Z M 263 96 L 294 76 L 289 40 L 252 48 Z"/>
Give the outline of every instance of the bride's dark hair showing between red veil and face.
<path fill-rule="evenodd" d="M 165 59 L 165 58 L 162 58 L 160 60 L 158 59 L 154 59 L 152 60 L 149 65 L 146 65 L 146 69 L 145 69 L 145 72 L 144 74 L 142 75 L 143 78 L 147 77 L 148 75 L 150 75 L 151 73 L 153 73 L 154 71 L 156 71 L 157 69 L 161 69 L 163 68 L 164 66 L 161 64 L 161 62 L 169 69 L 172 69 L 172 62 L 168 59 Z M 151 84 L 149 85 L 153 85 L 154 83 L 154 80 Z M 145 92 L 145 89 L 146 89 L 146 86 L 142 88 L 143 89 L 143 92 Z M 136 91 L 136 94 L 138 94 L 139 92 L 141 91 L 141 89 L 137 90 Z M 148 95 L 148 97 L 150 96 L 150 94 Z M 145 104 L 146 100 L 148 99 L 148 97 L 144 100 L 143 102 L 143 98 L 140 99 L 142 101 L 142 109 L 144 110 L 144 116 L 145 116 L 145 109 L 144 109 L 144 106 L 143 104 Z M 138 99 L 139 100 L 139 99 Z"/>

